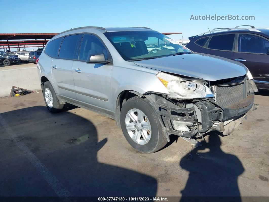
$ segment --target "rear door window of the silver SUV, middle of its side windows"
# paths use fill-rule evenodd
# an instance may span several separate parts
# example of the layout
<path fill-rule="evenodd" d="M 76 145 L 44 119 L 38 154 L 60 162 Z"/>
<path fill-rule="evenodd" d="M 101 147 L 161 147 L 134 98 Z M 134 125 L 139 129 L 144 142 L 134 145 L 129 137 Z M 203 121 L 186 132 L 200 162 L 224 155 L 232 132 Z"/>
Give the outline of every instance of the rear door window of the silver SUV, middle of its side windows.
<path fill-rule="evenodd" d="M 59 50 L 59 58 L 74 59 L 76 53 L 76 44 L 79 39 L 79 34 L 65 36 Z"/>

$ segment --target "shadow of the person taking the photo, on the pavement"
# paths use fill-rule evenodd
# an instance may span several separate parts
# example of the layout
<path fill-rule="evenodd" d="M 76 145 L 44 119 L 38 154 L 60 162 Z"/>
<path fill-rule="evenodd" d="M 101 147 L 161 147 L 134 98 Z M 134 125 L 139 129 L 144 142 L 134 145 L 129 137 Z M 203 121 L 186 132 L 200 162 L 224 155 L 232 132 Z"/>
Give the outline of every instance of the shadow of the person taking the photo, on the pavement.
<path fill-rule="evenodd" d="M 186 155 L 180 160 L 180 166 L 189 172 L 180 201 L 189 201 L 190 198 L 194 200 L 193 197 L 198 201 L 206 199 L 204 197 L 213 201 L 220 197 L 232 197 L 233 200 L 240 201 L 238 176 L 244 172 L 240 160 L 221 150 L 220 137 L 213 132 L 208 143 L 202 141 L 201 144 L 192 150 L 192 158 Z M 199 153 L 203 150 L 209 151 Z"/>

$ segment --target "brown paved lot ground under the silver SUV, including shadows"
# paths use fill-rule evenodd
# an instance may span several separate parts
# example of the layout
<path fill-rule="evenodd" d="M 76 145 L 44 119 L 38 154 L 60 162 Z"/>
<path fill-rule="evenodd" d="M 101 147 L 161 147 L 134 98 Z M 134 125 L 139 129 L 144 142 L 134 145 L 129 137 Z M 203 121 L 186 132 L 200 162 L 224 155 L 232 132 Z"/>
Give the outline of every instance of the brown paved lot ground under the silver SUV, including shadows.
<path fill-rule="evenodd" d="M 143 154 L 110 118 L 72 105 L 51 114 L 41 91 L 0 98 L 0 196 L 269 197 L 268 95 L 231 135 L 200 139 L 193 160 L 177 136 Z"/>

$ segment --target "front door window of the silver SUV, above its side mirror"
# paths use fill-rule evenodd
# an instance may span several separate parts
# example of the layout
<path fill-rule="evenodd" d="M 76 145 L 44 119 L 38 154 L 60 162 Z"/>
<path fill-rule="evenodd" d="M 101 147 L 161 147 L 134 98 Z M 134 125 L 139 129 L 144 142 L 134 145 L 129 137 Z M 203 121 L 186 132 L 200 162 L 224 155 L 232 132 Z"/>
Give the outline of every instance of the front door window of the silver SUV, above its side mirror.
<path fill-rule="evenodd" d="M 107 58 L 107 49 L 98 37 L 84 34 L 79 50 L 79 60 L 86 61 L 90 54 L 103 52 Z"/>

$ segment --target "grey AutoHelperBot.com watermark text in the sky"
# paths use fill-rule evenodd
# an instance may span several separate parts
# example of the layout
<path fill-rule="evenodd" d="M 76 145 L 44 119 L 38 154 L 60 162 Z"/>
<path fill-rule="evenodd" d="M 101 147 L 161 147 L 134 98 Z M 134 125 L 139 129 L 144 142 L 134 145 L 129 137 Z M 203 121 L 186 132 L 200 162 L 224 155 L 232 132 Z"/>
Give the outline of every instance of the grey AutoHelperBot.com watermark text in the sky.
<path fill-rule="evenodd" d="M 255 16 L 239 15 L 191 15 L 190 20 L 255 20 Z"/>

